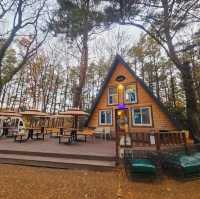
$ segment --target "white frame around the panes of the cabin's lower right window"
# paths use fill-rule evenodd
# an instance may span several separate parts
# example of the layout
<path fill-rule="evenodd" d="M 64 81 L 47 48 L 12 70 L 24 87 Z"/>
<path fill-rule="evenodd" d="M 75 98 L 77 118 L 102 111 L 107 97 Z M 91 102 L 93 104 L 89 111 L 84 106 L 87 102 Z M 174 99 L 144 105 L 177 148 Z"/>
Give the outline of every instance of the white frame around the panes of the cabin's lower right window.
<path fill-rule="evenodd" d="M 149 110 L 149 121 L 150 123 L 149 124 L 144 124 L 144 123 L 141 123 L 141 124 L 136 124 L 135 123 L 135 114 L 134 114 L 134 110 L 136 109 L 139 109 L 140 110 L 140 114 L 142 113 L 142 109 L 148 109 Z M 153 114 L 152 114 L 152 107 L 151 106 L 144 106 L 144 107 L 133 107 L 131 108 L 131 124 L 132 126 L 137 126 L 137 127 L 152 127 L 153 126 Z M 141 117 L 141 122 L 142 122 L 142 117 Z"/>

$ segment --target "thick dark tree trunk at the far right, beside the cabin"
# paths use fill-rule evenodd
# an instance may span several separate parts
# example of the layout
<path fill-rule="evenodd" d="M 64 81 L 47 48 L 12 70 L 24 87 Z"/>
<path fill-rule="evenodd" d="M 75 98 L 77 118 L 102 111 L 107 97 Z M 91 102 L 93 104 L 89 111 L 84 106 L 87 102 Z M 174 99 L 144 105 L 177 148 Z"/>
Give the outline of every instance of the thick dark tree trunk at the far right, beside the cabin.
<path fill-rule="evenodd" d="M 196 99 L 196 92 L 192 78 L 192 71 L 189 62 L 185 62 L 181 67 L 181 75 L 186 96 L 186 112 L 189 132 L 195 142 L 200 142 L 200 115 Z"/>

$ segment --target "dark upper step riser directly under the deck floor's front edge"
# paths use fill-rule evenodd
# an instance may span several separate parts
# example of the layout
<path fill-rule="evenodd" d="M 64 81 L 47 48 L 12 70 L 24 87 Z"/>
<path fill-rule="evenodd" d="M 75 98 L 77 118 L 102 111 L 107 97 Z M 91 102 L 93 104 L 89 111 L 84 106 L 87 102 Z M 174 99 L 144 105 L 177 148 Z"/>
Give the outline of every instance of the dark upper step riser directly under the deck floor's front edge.
<path fill-rule="evenodd" d="M 20 151 L 20 150 L 0 150 L 0 154 L 69 158 L 69 159 L 83 159 L 83 160 L 102 160 L 102 161 L 115 161 L 116 160 L 116 158 L 114 156 L 66 154 L 66 153 L 65 154 L 64 153 L 47 153 L 47 152 Z"/>

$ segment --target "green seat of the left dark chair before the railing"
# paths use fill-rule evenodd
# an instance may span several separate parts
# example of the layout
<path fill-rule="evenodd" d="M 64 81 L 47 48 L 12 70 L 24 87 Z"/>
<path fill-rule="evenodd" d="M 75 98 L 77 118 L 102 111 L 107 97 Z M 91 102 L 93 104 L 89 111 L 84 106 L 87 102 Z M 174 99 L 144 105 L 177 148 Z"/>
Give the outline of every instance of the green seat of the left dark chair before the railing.
<path fill-rule="evenodd" d="M 146 173 L 146 174 L 155 174 L 156 166 L 155 164 L 148 159 L 135 159 L 131 162 L 132 172 L 133 173 Z"/>

